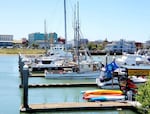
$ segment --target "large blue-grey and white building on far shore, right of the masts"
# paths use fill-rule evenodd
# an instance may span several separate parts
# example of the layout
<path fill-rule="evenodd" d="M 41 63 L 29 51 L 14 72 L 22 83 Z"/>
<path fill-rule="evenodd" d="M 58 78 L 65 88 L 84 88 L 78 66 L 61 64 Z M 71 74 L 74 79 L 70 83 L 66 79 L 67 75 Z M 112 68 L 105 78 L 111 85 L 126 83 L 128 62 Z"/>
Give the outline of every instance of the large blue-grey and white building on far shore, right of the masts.
<path fill-rule="evenodd" d="M 136 45 L 135 41 L 125 41 L 121 39 L 120 41 L 112 42 L 111 44 L 107 44 L 104 49 L 106 52 L 117 52 L 117 53 L 135 53 Z"/>

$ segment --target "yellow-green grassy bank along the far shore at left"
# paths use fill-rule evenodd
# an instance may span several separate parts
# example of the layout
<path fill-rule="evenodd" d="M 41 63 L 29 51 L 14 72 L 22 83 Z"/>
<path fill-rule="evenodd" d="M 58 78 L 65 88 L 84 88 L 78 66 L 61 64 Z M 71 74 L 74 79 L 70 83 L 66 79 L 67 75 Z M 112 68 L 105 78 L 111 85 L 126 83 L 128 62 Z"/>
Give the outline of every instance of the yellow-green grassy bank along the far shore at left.
<path fill-rule="evenodd" d="M 44 54 L 45 50 L 43 49 L 20 49 L 20 48 L 13 48 L 13 49 L 0 49 L 0 54 Z"/>

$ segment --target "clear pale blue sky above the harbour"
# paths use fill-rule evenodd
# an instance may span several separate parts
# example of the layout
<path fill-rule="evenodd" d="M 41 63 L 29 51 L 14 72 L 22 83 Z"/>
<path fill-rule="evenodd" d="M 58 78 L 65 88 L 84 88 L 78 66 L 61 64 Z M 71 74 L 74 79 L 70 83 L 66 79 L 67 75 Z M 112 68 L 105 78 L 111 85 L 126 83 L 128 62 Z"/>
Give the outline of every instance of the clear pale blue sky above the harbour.
<path fill-rule="evenodd" d="M 73 39 L 75 4 L 83 38 L 150 40 L 150 0 L 66 0 L 67 40 Z M 0 34 L 20 40 L 28 34 L 56 32 L 64 37 L 64 0 L 0 0 Z"/>

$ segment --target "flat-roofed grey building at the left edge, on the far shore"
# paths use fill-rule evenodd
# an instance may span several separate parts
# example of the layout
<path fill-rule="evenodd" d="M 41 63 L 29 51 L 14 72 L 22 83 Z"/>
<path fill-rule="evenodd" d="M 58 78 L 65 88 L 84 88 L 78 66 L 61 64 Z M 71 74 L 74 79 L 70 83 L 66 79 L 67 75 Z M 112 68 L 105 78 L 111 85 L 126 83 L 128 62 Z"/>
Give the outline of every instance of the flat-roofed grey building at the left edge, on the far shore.
<path fill-rule="evenodd" d="M 0 35 L 0 48 L 12 48 L 13 35 Z"/>

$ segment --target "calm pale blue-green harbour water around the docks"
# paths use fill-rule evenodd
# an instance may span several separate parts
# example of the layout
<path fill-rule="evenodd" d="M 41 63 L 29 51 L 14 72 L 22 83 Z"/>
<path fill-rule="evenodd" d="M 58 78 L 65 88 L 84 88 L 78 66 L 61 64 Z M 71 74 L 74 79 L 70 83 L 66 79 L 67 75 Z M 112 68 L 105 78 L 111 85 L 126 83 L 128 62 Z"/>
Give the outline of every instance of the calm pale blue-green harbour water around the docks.
<path fill-rule="evenodd" d="M 98 57 L 98 56 L 97 56 Z M 103 57 L 104 58 L 104 57 Z M 97 59 L 100 59 L 99 57 Z M 81 80 L 51 80 L 30 78 L 29 84 L 80 82 Z M 95 81 L 95 80 L 82 80 Z M 18 71 L 18 55 L 0 55 L 0 114 L 19 114 L 22 104 L 22 89 Z M 83 90 L 96 87 L 29 88 L 29 104 L 56 102 L 86 102 L 80 94 Z M 130 110 L 103 110 L 80 112 L 57 112 L 53 114 L 136 114 Z M 24 113 L 21 113 L 24 114 Z M 26 114 L 26 113 L 25 113 Z M 43 114 L 43 113 L 38 113 Z M 44 113 L 49 114 L 49 113 Z"/>

